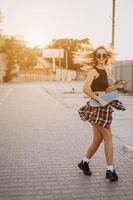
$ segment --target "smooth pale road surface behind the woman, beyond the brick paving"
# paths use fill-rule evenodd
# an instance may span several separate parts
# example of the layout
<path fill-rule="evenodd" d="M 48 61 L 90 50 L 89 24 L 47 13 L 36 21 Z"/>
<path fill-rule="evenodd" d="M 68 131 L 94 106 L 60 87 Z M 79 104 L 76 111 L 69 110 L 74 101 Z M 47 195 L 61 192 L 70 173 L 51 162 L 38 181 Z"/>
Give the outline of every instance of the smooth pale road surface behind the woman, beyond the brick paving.
<path fill-rule="evenodd" d="M 75 113 L 77 113 L 80 106 L 88 101 L 86 96 L 82 93 L 82 81 L 64 82 L 62 84 L 60 82 L 55 82 L 54 84 L 51 82 L 45 83 L 43 87 L 48 94 Z M 75 93 L 71 93 L 72 88 L 75 89 Z M 113 134 L 121 140 L 123 145 L 133 147 L 133 96 L 121 94 L 119 99 L 125 105 L 126 111 L 115 110 L 113 113 Z"/>

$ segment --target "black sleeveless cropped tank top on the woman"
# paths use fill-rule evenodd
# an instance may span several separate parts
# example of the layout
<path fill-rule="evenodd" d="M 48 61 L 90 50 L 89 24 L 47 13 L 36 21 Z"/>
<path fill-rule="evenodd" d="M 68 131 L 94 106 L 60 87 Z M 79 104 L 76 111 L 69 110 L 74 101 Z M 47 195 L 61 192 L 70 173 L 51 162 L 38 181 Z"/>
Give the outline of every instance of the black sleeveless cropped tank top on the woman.
<path fill-rule="evenodd" d="M 93 92 L 95 91 L 105 91 L 109 86 L 108 79 L 107 79 L 107 72 L 104 69 L 96 68 L 99 76 L 98 78 L 94 79 L 91 85 L 91 89 Z"/>

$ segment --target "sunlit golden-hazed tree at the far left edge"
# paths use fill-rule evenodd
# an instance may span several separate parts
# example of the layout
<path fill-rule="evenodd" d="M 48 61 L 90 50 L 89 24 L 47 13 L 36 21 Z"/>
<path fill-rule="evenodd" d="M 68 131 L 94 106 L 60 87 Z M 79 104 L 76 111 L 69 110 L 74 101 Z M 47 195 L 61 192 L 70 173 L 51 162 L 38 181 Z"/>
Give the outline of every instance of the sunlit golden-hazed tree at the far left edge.
<path fill-rule="evenodd" d="M 1 52 L 7 55 L 7 70 L 4 81 L 12 80 L 12 71 L 15 69 L 15 64 L 20 66 L 20 70 L 29 70 L 36 65 L 36 57 L 41 55 L 41 50 L 38 48 L 30 48 L 23 40 L 17 40 L 13 36 L 3 36 L 4 46 Z"/>

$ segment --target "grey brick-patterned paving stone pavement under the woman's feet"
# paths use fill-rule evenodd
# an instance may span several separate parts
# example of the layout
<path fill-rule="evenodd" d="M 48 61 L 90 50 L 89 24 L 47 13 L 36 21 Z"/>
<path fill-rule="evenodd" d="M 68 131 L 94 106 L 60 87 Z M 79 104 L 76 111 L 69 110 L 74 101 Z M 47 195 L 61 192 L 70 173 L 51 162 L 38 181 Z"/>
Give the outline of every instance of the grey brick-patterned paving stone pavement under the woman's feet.
<path fill-rule="evenodd" d="M 8 85 L 7 93 L 0 105 L 0 200 L 133 199 L 133 162 L 116 137 L 119 181 L 104 180 L 103 144 L 90 164 L 93 175 L 84 176 L 77 163 L 91 126 L 39 84 Z"/>

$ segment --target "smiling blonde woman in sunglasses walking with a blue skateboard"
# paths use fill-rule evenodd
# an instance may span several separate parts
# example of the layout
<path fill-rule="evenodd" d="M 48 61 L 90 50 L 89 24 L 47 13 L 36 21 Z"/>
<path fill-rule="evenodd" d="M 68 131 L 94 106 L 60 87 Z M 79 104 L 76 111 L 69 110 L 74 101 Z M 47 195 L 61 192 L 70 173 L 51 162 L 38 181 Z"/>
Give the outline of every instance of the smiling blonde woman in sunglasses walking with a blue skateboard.
<path fill-rule="evenodd" d="M 89 51 L 88 51 L 89 52 Z M 86 156 L 78 164 L 78 167 L 83 170 L 85 175 L 91 175 L 92 172 L 89 167 L 89 162 L 92 156 L 97 151 L 99 145 L 104 141 L 104 152 L 107 163 L 106 179 L 109 181 L 117 181 L 118 175 L 115 172 L 113 165 L 113 144 L 111 121 L 113 107 L 116 109 L 125 110 L 122 103 L 118 100 L 112 101 L 108 104 L 100 98 L 100 95 L 105 92 L 111 92 L 120 88 L 125 88 L 127 83 L 119 81 L 116 84 L 109 86 L 107 68 L 109 62 L 113 58 L 113 52 L 108 51 L 104 46 L 98 47 L 96 50 L 91 50 L 91 53 L 80 51 L 75 54 L 75 63 L 85 64 L 84 70 L 89 64 L 88 75 L 83 86 L 83 92 L 92 99 L 99 102 L 100 107 L 94 108 L 87 103 L 79 109 L 79 114 L 82 120 L 89 121 L 93 126 L 93 141 L 88 148 Z"/>

